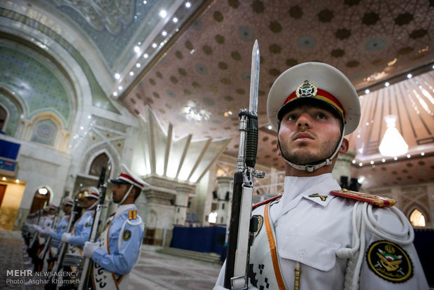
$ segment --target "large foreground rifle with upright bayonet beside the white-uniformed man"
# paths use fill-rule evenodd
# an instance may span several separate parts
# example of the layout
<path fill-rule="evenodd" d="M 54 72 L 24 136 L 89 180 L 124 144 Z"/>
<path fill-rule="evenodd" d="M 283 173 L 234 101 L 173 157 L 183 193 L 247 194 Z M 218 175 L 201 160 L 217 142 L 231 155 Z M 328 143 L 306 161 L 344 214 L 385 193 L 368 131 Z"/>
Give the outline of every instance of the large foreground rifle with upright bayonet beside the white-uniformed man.
<path fill-rule="evenodd" d="M 258 220 L 251 219 L 253 177 L 265 176 L 264 172 L 254 168 L 258 151 L 258 85 L 259 48 L 256 40 L 252 51 L 250 101 L 248 109 L 241 109 L 238 114 L 239 151 L 232 190 L 224 284 L 230 289 L 247 289 L 250 246 L 258 228 Z"/>

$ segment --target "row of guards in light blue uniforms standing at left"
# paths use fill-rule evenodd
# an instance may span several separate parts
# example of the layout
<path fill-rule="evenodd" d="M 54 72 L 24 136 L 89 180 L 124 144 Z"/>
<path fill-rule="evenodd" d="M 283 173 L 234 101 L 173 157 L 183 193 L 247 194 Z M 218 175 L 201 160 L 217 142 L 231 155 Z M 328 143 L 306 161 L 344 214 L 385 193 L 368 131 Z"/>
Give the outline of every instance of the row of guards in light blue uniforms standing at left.
<path fill-rule="evenodd" d="M 55 225 L 52 225 L 57 210 L 54 205 L 45 207 L 43 214 L 29 214 L 23 226 L 23 235 L 35 271 L 76 272 L 76 275 L 71 275 L 71 283 L 72 278 L 78 278 L 77 282 L 89 281 L 83 289 L 128 289 L 128 274 L 137 263 L 144 237 L 144 223 L 137 214 L 134 201 L 148 184 L 125 165 L 120 176 L 110 181 L 114 184 L 113 202 L 119 206 L 107 219 L 96 242 L 89 242 L 94 211 L 100 198 L 96 187 L 82 188 L 76 196 L 76 207 L 73 199 L 64 198 L 64 216 Z M 71 221 L 73 208 L 77 212 L 83 212 L 78 219 L 72 218 L 75 221 Z M 63 252 L 62 244 L 65 247 Z M 86 257 L 94 262 L 90 274 L 82 272 L 83 258 Z M 56 264 L 58 262 L 60 265 Z M 90 275 L 90 279 L 83 279 L 80 277 L 82 275 Z M 58 286 L 51 283 L 45 289 L 78 289 L 78 286 L 79 284 L 65 283 L 64 286 Z"/>

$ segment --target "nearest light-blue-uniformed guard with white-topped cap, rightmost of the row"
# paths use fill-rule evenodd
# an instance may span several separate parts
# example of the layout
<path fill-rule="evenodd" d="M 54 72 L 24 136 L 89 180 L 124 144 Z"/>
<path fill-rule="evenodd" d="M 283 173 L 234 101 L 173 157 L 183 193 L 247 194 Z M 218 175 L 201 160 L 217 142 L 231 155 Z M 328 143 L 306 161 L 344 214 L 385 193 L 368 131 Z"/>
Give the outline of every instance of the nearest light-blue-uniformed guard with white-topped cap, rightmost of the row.
<path fill-rule="evenodd" d="M 115 184 L 113 202 L 119 207 L 108 219 L 99 241 L 86 242 L 83 249 L 83 256 L 96 262 L 92 269 L 94 289 L 128 289 L 128 274 L 139 258 L 144 237 L 144 223 L 134 201 L 148 184 L 125 165 L 111 183 Z"/>

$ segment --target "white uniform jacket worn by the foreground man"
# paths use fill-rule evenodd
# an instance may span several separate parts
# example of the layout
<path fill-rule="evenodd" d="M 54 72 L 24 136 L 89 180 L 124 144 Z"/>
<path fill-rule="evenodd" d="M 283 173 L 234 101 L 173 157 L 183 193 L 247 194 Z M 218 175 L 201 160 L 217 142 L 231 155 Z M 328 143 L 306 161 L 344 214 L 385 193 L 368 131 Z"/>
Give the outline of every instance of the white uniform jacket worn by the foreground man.
<path fill-rule="evenodd" d="M 262 225 L 251 247 L 253 271 L 248 278 L 249 289 L 293 289 L 295 268 L 301 270 L 302 290 L 428 289 L 411 242 L 391 242 L 368 228 L 361 230 L 363 234 L 359 230 L 356 237 L 353 235 L 353 209 L 357 201 L 330 194 L 339 189 L 331 174 L 286 177 L 282 197 L 253 210 L 252 215 L 260 216 Z M 373 207 L 372 212 L 382 228 L 402 233 L 404 226 L 391 209 Z M 265 215 L 269 219 L 268 229 Z M 358 219 L 361 216 L 355 220 Z M 354 247 L 358 237 L 360 255 L 345 256 L 343 252 L 349 252 L 345 249 Z M 407 233 L 401 238 L 408 240 Z M 275 245 L 274 251 L 271 243 Z M 357 260 L 359 268 L 355 267 Z M 395 262 L 398 267 L 393 266 L 393 260 L 400 260 Z M 215 289 L 223 286 L 224 272 L 225 265 Z M 356 275 L 351 275 L 353 272 Z M 356 286 L 351 287 L 351 283 Z"/>

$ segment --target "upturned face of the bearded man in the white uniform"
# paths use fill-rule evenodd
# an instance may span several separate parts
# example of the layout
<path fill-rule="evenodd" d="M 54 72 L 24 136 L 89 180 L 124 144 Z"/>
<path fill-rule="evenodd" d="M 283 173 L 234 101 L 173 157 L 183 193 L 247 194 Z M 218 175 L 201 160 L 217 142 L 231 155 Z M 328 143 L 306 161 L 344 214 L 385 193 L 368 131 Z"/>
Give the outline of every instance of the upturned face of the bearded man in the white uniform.
<path fill-rule="evenodd" d="M 341 137 L 341 121 L 327 109 L 301 105 L 286 113 L 279 129 L 284 158 L 298 165 L 329 158 Z"/>

